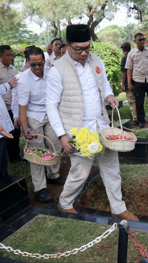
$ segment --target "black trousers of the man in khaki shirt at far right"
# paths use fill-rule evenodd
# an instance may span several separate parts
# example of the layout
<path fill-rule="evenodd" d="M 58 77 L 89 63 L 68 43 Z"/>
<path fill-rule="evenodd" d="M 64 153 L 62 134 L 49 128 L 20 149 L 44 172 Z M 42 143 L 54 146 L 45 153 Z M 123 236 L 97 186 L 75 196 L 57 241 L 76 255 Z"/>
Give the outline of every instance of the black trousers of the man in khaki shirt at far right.
<path fill-rule="evenodd" d="M 135 92 L 138 94 L 138 96 L 135 94 L 137 119 L 145 123 L 144 99 L 146 93 L 148 95 L 148 83 L 146 81 L 144 83 L 134 81 L 134 87 Z"/>

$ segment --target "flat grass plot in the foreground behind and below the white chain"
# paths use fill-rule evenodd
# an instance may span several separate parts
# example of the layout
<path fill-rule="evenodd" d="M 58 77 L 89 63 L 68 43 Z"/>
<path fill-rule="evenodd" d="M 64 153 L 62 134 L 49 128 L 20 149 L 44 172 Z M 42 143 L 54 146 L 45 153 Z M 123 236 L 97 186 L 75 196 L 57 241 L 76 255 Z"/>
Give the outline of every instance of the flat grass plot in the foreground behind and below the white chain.
<path fill-rule="evenodd" d="M 80 220 L 39 215 L 27 225 L 2 241 L 5 246 L 29 253 L 64 253 L 88 244 L 101 236 L 111 226 Z M 134 231 L 138 242 L 146 249 L 148 232 Z M 76 255 L 62 258 L 36 259 L 9 253 L 2 249 L 0 255 L 24 262 L 117 262 L 118 229 L 92 248 Z M 142 255 L 129 239 L 127 262 L 139 262 Z"/>

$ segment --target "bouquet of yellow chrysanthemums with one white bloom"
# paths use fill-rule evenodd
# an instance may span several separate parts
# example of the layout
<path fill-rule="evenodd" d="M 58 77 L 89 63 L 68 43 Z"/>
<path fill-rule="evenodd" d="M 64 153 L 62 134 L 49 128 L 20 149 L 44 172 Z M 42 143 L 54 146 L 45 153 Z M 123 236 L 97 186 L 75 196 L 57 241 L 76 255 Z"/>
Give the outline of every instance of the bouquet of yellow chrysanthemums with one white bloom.
<path fill-rule="evenodd" d="M 75 148 L 74 154 L 83 157 L 94 158 L 102 150 L 97 131 L 91 131 L 88 128 L 81 127 L 70 130 L 72 138 L 70 144 Z"/>

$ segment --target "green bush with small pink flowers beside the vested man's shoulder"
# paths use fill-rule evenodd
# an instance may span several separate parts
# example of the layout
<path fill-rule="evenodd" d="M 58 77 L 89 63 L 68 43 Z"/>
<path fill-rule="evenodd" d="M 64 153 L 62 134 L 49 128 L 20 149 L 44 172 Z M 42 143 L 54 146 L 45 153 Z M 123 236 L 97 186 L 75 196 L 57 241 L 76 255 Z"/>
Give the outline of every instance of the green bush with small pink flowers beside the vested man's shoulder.
<path fill-rule="evenodd" d="M 114 43 L 107 43 L 99 41 L 93 42 L 92 52 L 101 57 L 105 64 L 106 74 L 109 83 L 113 89 L 113 93 L 117 96 L 121 92 L 121 59 L 122 52 L 114 45 Z"/>

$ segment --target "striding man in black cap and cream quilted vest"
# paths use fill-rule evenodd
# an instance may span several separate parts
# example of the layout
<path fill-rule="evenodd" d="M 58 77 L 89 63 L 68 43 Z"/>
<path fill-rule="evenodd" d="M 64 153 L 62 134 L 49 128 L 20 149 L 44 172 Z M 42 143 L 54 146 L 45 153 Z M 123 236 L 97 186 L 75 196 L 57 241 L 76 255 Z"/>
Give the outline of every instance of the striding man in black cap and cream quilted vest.
<path fill-rule="evenodd" d="M 58 209 L 77 213 L 73 208 L 83 190 L 93 160 L 73 154 L 69 130 L 109 127 L 105 101 L 115 109 L 119 102 L 113 96 L 103 61 L 90 53 L 93 46 L 88 25 L 70 25 L 66 29 L 66 54 L 53 63 L 47 74 L 47 115 L 64 151 L 70 154 L 71 168 L 60 195 Z M 105 148 L 95 160 L 109 198 L 113 217 L 138 221 L 122 201 L 121 176 L 117 151 Z"/>

